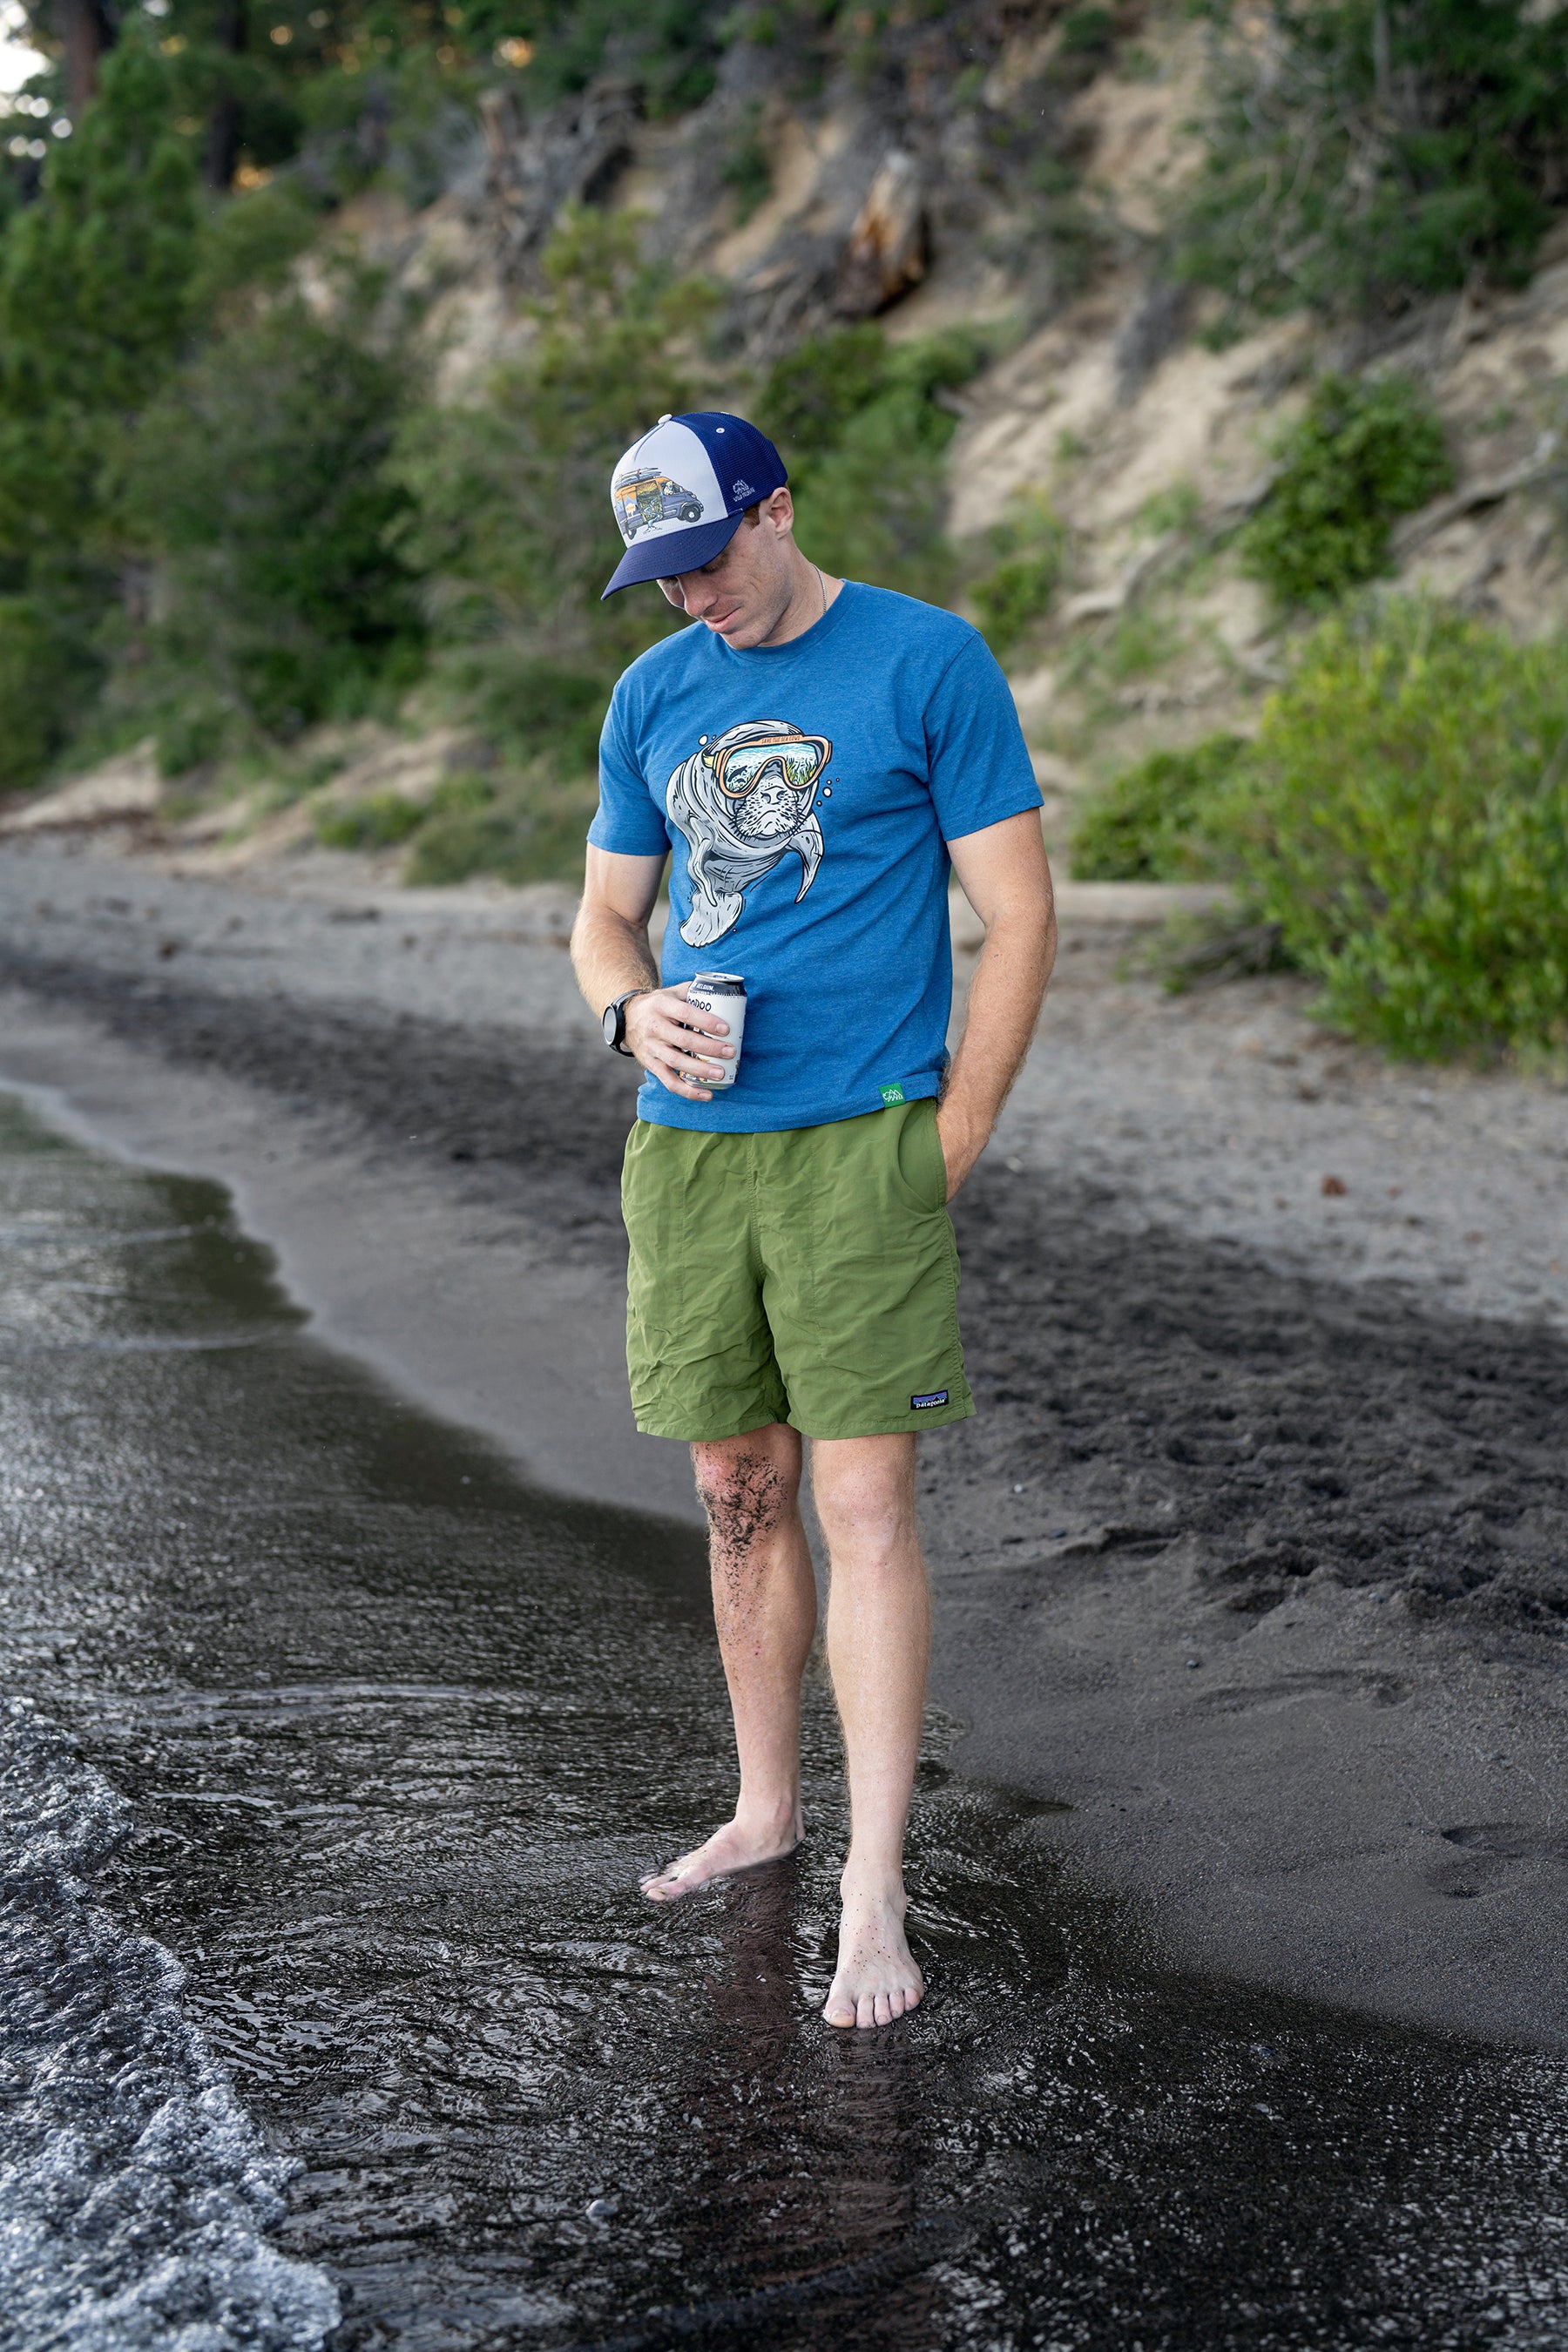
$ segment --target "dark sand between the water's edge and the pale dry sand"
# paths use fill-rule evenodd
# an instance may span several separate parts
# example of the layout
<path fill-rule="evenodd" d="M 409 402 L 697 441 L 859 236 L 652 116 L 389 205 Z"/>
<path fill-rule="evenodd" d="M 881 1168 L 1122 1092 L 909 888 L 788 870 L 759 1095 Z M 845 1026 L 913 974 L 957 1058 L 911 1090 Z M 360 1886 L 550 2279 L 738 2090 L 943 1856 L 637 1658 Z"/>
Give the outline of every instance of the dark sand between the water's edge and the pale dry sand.
<path fill-rule="evenodd" d="M 19 866 L 31 889 L 40 868 Z M 256 906 L 136 887 L 172 936 L 183 906 Z M 343 913 L 310 922 L 327 936 Z M 616 1383 L 630 1073 L 585 1025 L 545 1021 L 541 1042 L 266 962 L 212 985 L 212 960 L 155 960 L 141 927 L 132 957 L 127 929 L 56 913 L 12 931 L 0 1075 L 75 1094 L 141 1152 L 158 1134 L 165 1164 L 183 1129 L 179 1164 L 242 1176 L 252 1228 L 315 1268 L 329 1336 L 355 1338 L 357 1279 L 381 1369 L 545 1484 L 691 1517 L 679 1449 L 628 1435 Z M 1098 1176 L 1041 1181 L 1006 1141 L 957 1225 L 980 1416 L 929 1439 L 924 1510 L 964 1769 L 1070 1806 L 1051 1837 L 1178 1955 L 1563 2049 L 1559 1331 L 1281 1265 Z M 567 1350 L 569 1414 L 529 1392 L 538 1331 Z M 465 1411 L 463 1359 L 508 1399 Z"/>

